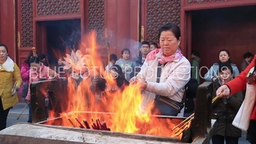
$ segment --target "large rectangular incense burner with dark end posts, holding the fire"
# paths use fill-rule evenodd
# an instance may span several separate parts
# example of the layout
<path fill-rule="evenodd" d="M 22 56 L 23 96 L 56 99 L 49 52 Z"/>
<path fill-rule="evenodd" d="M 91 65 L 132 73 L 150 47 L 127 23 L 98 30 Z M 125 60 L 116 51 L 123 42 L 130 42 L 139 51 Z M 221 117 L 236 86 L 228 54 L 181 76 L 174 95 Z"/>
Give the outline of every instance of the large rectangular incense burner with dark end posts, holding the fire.
<path fill-rule="evenodd" d="M 81 116 L 97 115 L 108 118 L 108 116 L 111 117 L 115 113 L 70 111 L 64 115 L 59 115 L 59 113 L 65 111 L 60 106 L 61 104 L 65 105 L 65 103 L 60 103 L 60 100 L 65 100 L 65 95 L 61 95 L 60 90 L 60 85 L 56 80 L 31 84 L 31 106 L 34 124 L 18 123 L 0 131 L 0 143 L 19 143 L 19 141 L 26 143 L 45 143 L 46 141 L 47 143 L 124 143 L 127 141 L 131 143 L 209 143 L 211 140 L 212 127 L 215 123 L 215 120 L 211 120 L 211 82 L 205 82 L 198 86 L 194 119 L 188 125 L 188 128 L 182 131 L 180 138 L 140 132 L 86 129 L 80 124 L 83 123 Z M 45 100 L 45 95 L 49 98 L 49 101 Z M 49 110 L 55 112 L 52 118 L 47 118 Z M 77 117 L 74 117 L 74 115 Z M 79 117 L 79 115 L 81 116 Z M 171 120 L 176 125 L 186 119 L 183 117 L 156 115 L 152 115 L 150 118 Z M 63 125 L 65 120 L 72 121 L 70 126 Z M 108 121 L 106 121 L 106 124 L 108 125 Z M 24 132 L 24 129 L 26 129 L 26 132 Z M 168 132 L 171 133 L 173 131 L 168 129 L 166 133 Z"/>

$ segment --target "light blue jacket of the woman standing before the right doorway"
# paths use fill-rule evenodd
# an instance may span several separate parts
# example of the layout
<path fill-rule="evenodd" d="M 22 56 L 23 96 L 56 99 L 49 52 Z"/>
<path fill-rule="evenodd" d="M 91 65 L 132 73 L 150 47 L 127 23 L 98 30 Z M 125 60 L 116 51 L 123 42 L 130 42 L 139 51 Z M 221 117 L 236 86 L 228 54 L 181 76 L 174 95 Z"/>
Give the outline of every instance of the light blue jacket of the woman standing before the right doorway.
<path fill-rule="evenodd" d="M 235 64 L 231 63 L 231 67 L 233 68 L 233 76 L 237 77 L 239 75 L 239 70 Z M 208 72 L 204 75 L 205 81 L 212 81 L 212 77 L 218 77 L 219 64 L 214 63 L 212 67 L 208 70 Z"/>

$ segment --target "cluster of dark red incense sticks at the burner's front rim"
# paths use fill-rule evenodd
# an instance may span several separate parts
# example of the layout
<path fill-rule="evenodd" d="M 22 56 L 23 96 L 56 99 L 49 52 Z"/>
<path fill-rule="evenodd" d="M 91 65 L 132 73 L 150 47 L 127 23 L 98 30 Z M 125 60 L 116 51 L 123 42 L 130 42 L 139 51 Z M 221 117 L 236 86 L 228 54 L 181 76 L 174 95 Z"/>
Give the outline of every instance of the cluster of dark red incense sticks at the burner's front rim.
<path fill-rule="evenodd" d="M 70 122 L 70 124 L 73 125 L 73 127 L 76 127 L 76 125 L 74 125 L 74 123 L 72 122 L 72 120 L 70 120 L 70 118 L 68 118 L 68 121 Z M 80 128 L 91 129 L 90 125 L 88 124 L 88 122 L 86 120 L 83 120 L 83 124 L 77 118 L 76 118 L 76 121 L 78 122 Z M 102 122 L 102 124 L 101 124 L 99 118 L 96 119 L 96 124 L 92 118 L 92 129 L 102 130 L 102 131 L 110 131 L 110 128 L 107 127 L 106 122 Z"/>

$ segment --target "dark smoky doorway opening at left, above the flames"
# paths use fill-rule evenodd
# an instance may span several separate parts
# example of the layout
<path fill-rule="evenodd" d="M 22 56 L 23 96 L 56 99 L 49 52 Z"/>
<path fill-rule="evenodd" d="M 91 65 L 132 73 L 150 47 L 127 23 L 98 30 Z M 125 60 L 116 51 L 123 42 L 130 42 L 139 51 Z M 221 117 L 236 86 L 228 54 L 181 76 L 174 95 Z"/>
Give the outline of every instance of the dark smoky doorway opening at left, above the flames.
<path fill-rule="evenodd" d="M 50 65 L 57 65 L 58 59 L 78 49 L 81 40 L 81 20 L 54 20 L 44 22 L 46 28 L 47 53 Z"/>

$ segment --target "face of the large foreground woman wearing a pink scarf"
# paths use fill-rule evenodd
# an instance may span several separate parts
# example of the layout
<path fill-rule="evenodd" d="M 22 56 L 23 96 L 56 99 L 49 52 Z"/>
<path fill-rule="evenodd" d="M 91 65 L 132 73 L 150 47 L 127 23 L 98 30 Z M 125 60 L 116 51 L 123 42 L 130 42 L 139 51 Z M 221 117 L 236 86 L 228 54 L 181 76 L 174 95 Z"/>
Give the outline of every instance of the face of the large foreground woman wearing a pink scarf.
<path fill-rule="evenodd" d="M 180 44 L 180 38 L 177 40 L 172 31 L 162 31 L 159 41 L 164 56 L 171 56 L 174 54 Z"/>

